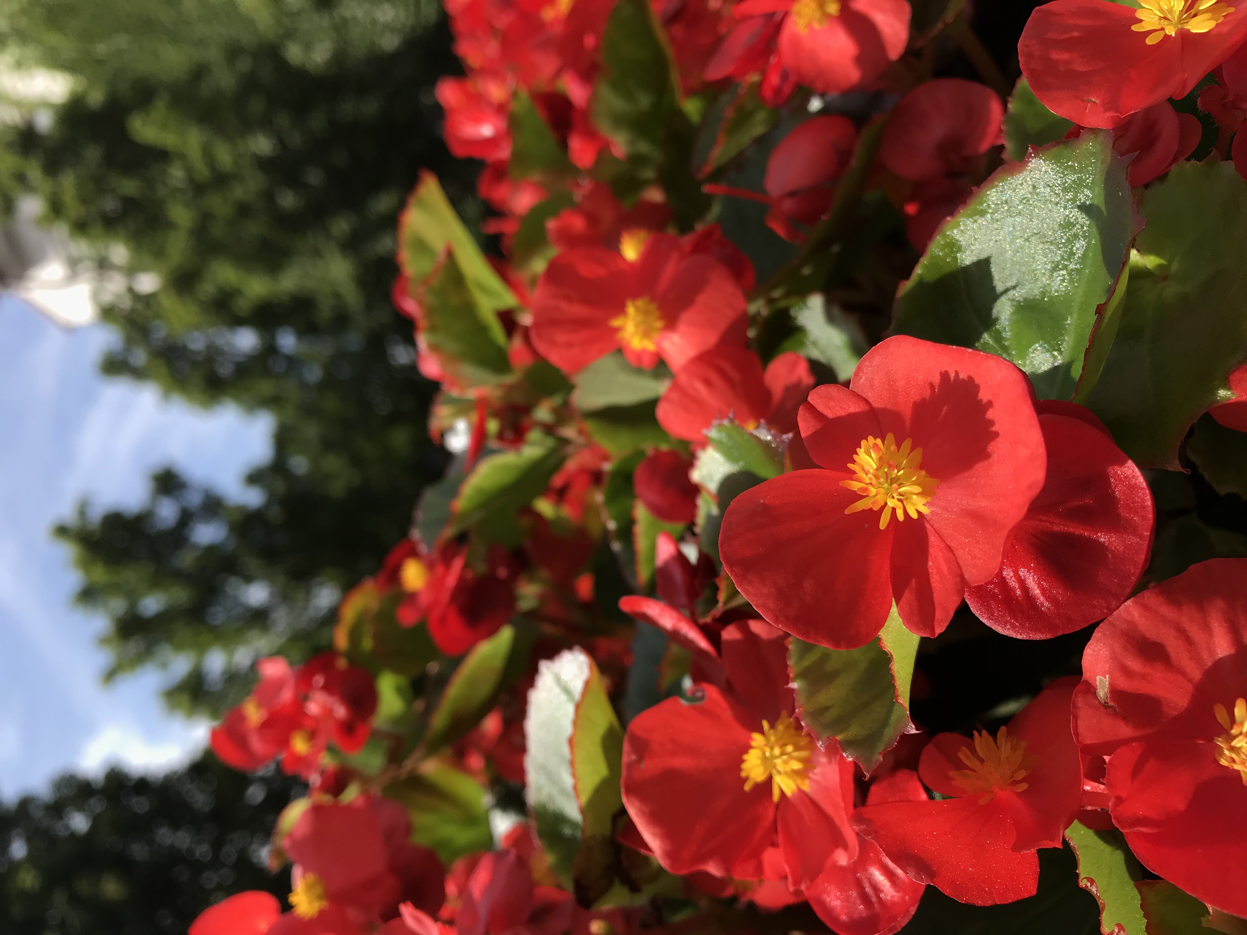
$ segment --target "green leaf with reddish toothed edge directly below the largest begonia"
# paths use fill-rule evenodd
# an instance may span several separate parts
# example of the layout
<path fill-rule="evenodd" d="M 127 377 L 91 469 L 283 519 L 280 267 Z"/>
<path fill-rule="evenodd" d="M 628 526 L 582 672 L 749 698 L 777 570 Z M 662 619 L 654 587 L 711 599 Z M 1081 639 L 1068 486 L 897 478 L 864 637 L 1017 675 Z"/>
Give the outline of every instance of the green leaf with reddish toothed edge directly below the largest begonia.
<path fill-rule="evenodd" d="M 862 769 L 909 728 L 909 688 L 918 637 L 893 607 L 878 637 L 857 650 L 828 650 L 793 638 L 788 664 L 797 709 L 819 743 L 839 742 Z"/>

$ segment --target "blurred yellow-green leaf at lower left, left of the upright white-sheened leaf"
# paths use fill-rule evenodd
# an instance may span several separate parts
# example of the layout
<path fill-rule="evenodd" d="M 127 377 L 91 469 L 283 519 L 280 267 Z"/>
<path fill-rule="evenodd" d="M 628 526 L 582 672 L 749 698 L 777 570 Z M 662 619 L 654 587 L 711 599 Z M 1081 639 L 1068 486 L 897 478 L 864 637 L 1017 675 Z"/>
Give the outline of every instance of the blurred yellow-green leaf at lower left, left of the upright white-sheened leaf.
<path fill-rule="evenodd" d="M 407 807 L 412 840 L 431 848 L 446 866 L 464 854 L 494 846 L 485 790 L 454 767 L 430 762 L 383 793 Z"/>

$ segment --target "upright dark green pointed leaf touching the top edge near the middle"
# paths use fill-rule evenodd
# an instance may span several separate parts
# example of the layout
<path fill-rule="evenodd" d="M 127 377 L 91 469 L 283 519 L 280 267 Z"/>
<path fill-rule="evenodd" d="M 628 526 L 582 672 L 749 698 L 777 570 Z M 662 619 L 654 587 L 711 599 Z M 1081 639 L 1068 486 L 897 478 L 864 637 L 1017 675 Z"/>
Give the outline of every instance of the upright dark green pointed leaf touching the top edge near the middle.
<path fill-rule="evenodd" d="M 590 105 L 594 126 L 628 157 L 657 163 L 680 110 L 680 77 L 647 0 L 619 0 L 601 44 L 602 74 Z"/>

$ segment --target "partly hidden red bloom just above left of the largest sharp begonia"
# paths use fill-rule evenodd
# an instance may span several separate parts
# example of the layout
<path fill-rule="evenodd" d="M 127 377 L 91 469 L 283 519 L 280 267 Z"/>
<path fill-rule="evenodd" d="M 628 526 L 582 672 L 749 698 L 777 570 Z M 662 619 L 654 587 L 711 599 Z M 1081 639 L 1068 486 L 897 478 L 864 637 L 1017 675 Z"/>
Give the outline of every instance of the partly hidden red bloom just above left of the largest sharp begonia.
<path fill-rule="evenodd" d="M 722 419 L 747 429 L 766 423 L 793 431 L 813 386 L 809 362 L 794 352 L 779 354 L 763 370 L 747 348 L 715 348 L 676 372 L 658 400 L 658 424 L 686 441 L 703 441 L 706 429 Z"/>

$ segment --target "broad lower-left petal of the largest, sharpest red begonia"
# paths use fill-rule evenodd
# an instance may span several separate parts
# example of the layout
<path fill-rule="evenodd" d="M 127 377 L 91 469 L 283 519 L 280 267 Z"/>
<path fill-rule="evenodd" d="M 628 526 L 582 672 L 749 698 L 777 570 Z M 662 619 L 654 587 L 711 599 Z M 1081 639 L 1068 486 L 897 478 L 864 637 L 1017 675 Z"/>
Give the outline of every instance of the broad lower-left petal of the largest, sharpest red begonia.
<path fill-rule="evenodd" d="M 897 524 L 844 510 L 860 497 L 833 471 L 782 474 L 727 507 L 723 567 L 763 617 L 796 637 L 853 650 L 870 642 L 892 610 L 889 565 Z"/>

